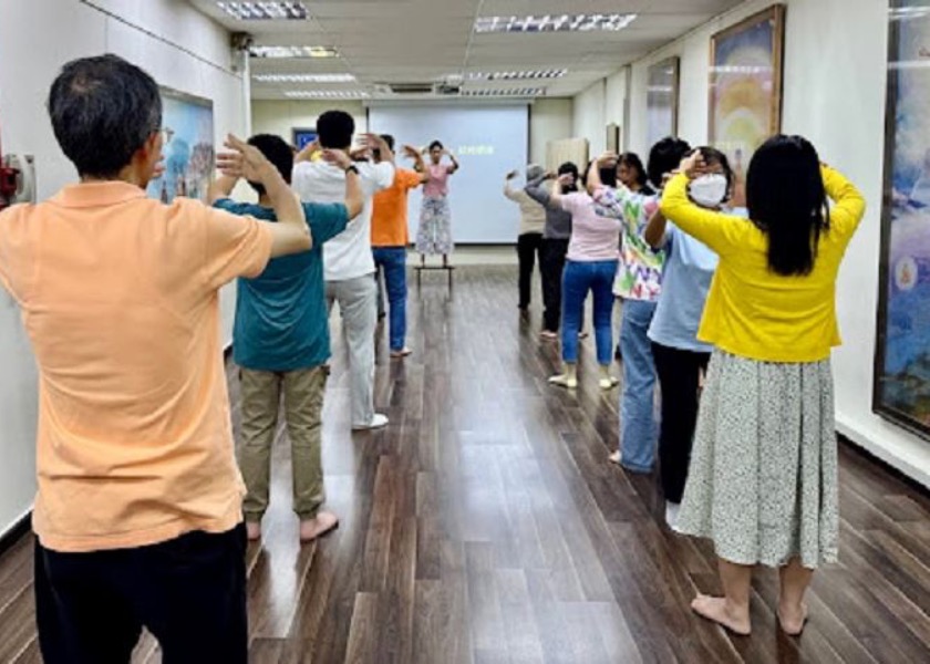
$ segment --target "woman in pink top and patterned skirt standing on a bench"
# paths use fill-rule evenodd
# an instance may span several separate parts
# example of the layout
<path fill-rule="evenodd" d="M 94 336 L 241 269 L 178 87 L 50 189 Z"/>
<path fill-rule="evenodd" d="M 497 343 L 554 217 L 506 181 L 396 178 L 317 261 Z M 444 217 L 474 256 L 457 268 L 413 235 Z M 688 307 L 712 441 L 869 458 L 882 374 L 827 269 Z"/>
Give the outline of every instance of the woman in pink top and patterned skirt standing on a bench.
<path fill-rule="evenodd" d="M 443 164 L 448 156 L 452 164 Z M 427 256 L 442 255 L 443 267 L 448 267 L 452 252 L 452 211 L 448 207 L 448 176 L 458 170 L 458 162 L 442 143 L 430 144 L 431 162 L 423 175 L 423 205 L 420 211 L 420 229 L 416 234 L 416 250 L 421 264 Z"/>

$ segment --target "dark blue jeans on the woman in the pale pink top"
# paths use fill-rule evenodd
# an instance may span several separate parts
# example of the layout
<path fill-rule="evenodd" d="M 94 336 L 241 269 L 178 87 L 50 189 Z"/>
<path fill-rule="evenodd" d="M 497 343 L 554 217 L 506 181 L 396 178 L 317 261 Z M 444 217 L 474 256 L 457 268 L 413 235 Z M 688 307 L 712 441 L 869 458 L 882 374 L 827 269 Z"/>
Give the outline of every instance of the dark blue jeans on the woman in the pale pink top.
<path fill-rule="evenodd" d="M 588 291 L 595 297 L 595 340 L 598 364 L 607 366 L 613 354 L 613 279 L 617 261 L 566 261 L 562 274 L 562 360 L 578 362 L 578 333 L 585 315 Z"/>

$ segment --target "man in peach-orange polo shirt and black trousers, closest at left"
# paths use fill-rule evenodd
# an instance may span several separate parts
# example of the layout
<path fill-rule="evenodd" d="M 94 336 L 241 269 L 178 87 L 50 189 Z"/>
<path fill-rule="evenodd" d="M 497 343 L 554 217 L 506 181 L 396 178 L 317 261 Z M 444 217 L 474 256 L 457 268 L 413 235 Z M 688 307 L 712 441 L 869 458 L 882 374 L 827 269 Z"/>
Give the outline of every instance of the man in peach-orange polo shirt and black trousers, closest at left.
<path fill-rule="evenodd" d="M 247 661 L 242 483 L 219 288 L 312 246 L 256 148 L 220 167 L 264 185 L 278 224 L 145 197 L 162 155 L 155 81 L 114 55 L 66 64 L 48 100 L 80 184 L 0 214 L 0 283 L 39 366 L 33 527 L 46 664 Z"/>

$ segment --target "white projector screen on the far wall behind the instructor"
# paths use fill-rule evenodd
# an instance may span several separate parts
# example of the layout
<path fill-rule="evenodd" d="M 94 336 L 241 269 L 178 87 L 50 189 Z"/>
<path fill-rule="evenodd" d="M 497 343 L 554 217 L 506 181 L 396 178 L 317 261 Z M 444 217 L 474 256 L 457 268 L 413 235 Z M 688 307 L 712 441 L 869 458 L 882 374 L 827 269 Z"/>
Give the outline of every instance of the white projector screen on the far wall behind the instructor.
<path fill-rule="evenodd" d="M 452 237 L 456 242 L 512 243 L 517 240 L 519 209 L 504 197 L 507 172 L 526 172 L 529 111 L 527 104 L 376 105 L 369 110 L 369 127 L 391 134 L 402 145 L 425 147 L 441 141 L 462 168 L 450 178 Z M 428 159 L 428 157 L 424 157 Z M 397 156 L 397 165 L 411 168 Z M 523 186 L 523 179 L 516 186 Z M 410 234 L 420 225 L 421 189 L 410 196 Z"/>

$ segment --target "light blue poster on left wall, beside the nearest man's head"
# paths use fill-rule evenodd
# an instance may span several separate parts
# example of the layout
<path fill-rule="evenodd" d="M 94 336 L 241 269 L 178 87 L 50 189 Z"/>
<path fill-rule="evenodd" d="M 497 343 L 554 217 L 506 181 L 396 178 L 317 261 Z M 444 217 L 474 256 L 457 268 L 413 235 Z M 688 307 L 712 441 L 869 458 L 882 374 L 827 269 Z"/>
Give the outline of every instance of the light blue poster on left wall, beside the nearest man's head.
<path fill-rule="evenodd" d="M 175 196 L 207 201 L 216 163 L 213 102 L 162 89 L 165 174 L 148 184 L 147 194 L 170 203 Z"/>

